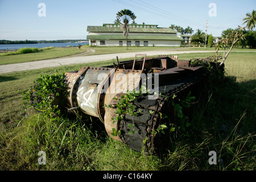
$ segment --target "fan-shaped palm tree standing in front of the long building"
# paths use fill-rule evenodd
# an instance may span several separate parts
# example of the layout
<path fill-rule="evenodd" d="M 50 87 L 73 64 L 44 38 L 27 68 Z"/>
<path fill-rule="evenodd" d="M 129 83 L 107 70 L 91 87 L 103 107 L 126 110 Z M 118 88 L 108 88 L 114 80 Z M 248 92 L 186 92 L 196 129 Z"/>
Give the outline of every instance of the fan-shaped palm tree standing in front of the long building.
<path fill-rule="evenodd" d="M 123 36 L 126 37 L 126 48 L 128 49 L 127 40 L 128 40 L 129 30 L 130 30 L 128 23 L 131 19 L 134 20 L 136 16 L 131 10 L 123 9 L 121 11 L 118 11 L 117 18 L 122 20 Z"/>

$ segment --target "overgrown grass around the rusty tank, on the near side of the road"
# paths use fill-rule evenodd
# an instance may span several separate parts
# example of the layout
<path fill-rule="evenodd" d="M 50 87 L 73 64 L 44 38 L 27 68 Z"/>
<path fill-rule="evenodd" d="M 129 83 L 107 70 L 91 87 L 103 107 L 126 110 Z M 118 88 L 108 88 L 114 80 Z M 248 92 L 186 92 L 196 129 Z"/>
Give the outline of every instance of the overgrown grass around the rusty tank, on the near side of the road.
<path fill-rule="evenodd" d="M 180 59 L 207 57 L 189 53 Z M 255 52 L 232 52 L 226 60 L 225 82 L 213 90 L 203 109 L 195 110 L 190 136 L 180 131 L 167 154 L 145 156 L 106 135 L 96 118 L 49 121 L 33 110 L 24 112 L 22 96 L 40 74 L 39 69 L 0 75 L 0 169 L 11 170 L 255 170 Z M 65 66 L 65 71 L 90 63 Z M 56 68 L 62 71 L 61 67 Z M 253 138 L 254 137 L 254 138 Z M 46 151 L 47 164 L 37 163 Z M 209 165 L 209 151 L 217 164 Z"/>

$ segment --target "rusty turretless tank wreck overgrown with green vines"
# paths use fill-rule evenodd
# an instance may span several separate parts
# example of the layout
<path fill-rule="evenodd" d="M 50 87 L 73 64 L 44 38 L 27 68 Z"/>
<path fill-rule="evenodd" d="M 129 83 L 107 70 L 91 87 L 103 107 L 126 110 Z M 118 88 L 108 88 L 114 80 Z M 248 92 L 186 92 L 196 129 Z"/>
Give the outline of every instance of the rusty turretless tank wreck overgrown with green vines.
<path fill-rule="evenodd" d="M 210 64 L 209 59 L 204 61 Z M 118 61 L 117 57 L 113 65 L 82 67 L 65 75 L 68 111 L 80 110 L 99 118 L 110 137 L 135 151 L 147 152 L 161 150 L 167 142 L 159 127 L 174 118 L 170 98 L 200 92 L 209 74 L 205 65 L 192 65 L 191 60 L 178 60 L 177 56 L 135 55 L 134 60 Z M 139 94 L 142 85 L 146 89 Z M 127 93 L 131 100 L 125 97 Z"/>

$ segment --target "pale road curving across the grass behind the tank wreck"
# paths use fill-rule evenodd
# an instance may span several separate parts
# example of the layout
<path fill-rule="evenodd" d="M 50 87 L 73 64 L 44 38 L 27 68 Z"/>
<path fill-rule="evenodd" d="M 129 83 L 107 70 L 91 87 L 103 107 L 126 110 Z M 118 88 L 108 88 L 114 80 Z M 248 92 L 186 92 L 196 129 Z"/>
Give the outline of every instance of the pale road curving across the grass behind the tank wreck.
<path fill-rule="evenodd" d="M 147 56 L 154 55 L 176 55 L 178 53 L 200 53 L 200 52 L 214 52 L 214 51 L 173 51 L 173 50 L 160 50 L 160 51 L 143 51 L 143 52 L 126 52 L 126 53 L 110 53 L 105 55 L 91 55 L 91 56 L 68 56 L 56 59 L 32 61 L 27 63 L 16 63 L 16 64 L 7 64 L 0 65 L 0 73 L 10 73 L 15 71 L 26 71 L 31 69 L 40 69 L 48 67 L 57 67 L 61 65 L 68 64 L 79 64 L 79 63 L 90 63 L 95 61 L 105 61 L 116 59 L 118 56 L 119 59 L 134 57 L 135 54 L 147 54 Z"/>

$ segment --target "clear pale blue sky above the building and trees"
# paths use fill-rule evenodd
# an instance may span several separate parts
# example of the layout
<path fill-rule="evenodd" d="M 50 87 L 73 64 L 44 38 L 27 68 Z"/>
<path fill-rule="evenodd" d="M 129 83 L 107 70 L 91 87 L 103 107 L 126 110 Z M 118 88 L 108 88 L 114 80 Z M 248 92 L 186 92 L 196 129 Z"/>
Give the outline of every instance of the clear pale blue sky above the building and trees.
<path fill-rule="evenodd" d="M 207 33 L 220 36 L 245 26 L 242 19 L 256 10 L 256 0 L 0 0 L 0 40 L 86 39 L 87 26 L 113 23 L 122 9 L 133 11 L 136 23 L 158 27 L 205 31 L 208 20 Z"/>

